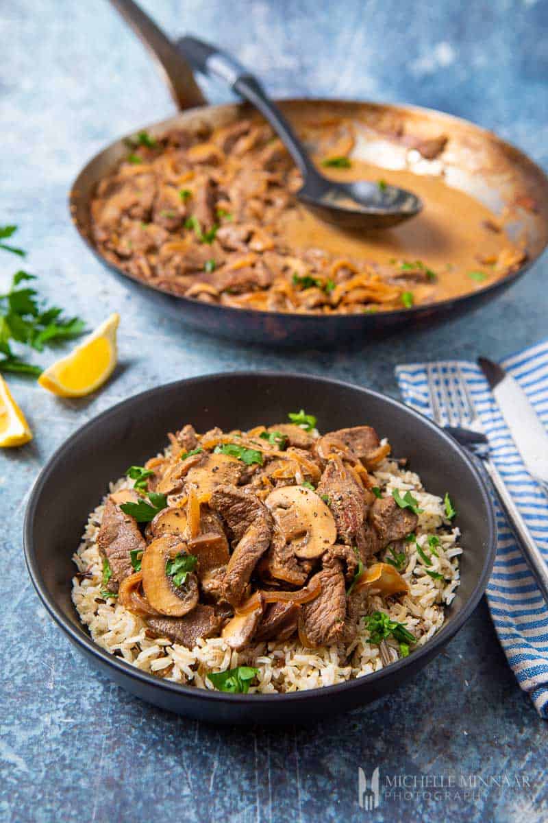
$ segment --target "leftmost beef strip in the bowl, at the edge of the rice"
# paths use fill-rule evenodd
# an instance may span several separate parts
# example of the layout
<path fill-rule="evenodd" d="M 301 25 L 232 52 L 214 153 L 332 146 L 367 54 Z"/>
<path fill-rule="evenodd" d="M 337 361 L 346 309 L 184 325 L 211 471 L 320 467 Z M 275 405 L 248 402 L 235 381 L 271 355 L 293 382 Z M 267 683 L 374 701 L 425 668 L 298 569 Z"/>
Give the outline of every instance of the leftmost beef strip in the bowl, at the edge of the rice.
<path fill-rule="evenodd" d="M 117 592 L 118 584 L 129 574 L 133 574 L 131 551 L 145 551 L 146 543 L 136 519 L 124 514 L 111 497 L 104 504 L 97 543 L 113 573 L 108 582 L 108 590 Z"/>

